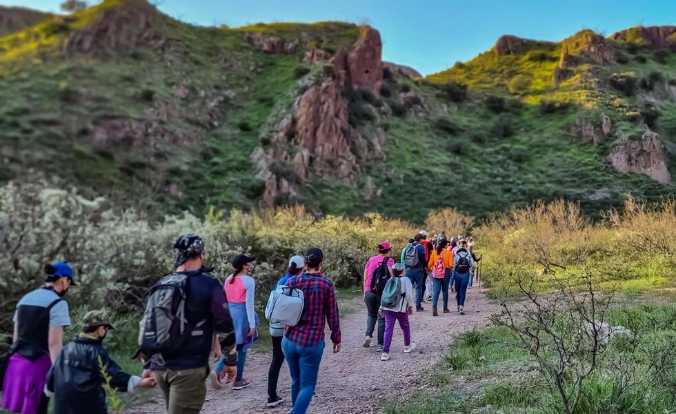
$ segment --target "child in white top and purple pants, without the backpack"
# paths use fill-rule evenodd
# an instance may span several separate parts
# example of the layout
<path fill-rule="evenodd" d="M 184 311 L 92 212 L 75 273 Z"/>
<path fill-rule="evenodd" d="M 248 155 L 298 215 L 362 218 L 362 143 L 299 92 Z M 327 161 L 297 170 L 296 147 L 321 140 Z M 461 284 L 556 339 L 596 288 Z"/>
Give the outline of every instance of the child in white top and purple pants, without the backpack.
<path fill-rule="evenodd" d="M 383 355 L 380 357 L 381 361 L 390 359 L 390 345 L 392 344 L 392 333 L 395 330 L 395 320 L 399 321 L 399 327 L 401 331 L 404 331 L 404 353 L 410 353 L 415 349 L 415 342 L 411 342 L 410 340 L 410 324 L 408 323 L 408 315 L 412 315 L 413 304 L 415 304 L 413 285 L 408 277 L 401 277 L 404 274 L 404 266 L 401 264 L 397 263 L 392 266 L 392 272 L 394 273 L 394 277 L 399 280 L 401 298 L 391 308 L 380 307 L 385 315 L 385 342 L 383 344 Z"/>

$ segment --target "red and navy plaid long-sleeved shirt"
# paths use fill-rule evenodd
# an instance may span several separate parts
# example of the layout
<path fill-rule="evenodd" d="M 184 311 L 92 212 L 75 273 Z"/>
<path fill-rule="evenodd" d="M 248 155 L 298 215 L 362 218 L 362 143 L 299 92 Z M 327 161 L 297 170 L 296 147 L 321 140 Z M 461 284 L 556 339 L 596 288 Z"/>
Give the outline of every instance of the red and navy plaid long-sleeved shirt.
<path fill-rule="evenodd" d="M 293 276 L 286 286 L 303 291 L 305 307 L 296 326 L 286 327 L 286 338 L 299 346 L 315 346 L 324 340 L 324 318 L 331 330 L 331 341 L 340 344 L 340 319 L 335 287 L 321 273 Z"/>

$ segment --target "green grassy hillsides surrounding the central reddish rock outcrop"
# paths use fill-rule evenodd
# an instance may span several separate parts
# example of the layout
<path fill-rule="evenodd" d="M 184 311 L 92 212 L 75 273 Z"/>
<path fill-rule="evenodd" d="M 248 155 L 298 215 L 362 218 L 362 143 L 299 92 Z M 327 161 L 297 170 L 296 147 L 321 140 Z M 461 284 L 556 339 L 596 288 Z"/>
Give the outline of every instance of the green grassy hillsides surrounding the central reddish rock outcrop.
<path fill-rule="evenodd" d="M 307 51 L 330 57 L 359 38 L 339 22 L 190 26 L 142 0 L 50 16 L 0 37 L 0 180 L 44 178 L 159 215 L 253 208 L 266 182 L 252 153 L 272 148 L 297 97 L 330 76 Z M 606 156 L 647 126 L 673 164 L 676 53 L 603 39 L 604 61 L 588 52 L 598 42 L 588 31 L 519 41 L 425 79 L 386 66 L 379 93 L 342 94 L 350 128 L 381 135 L 384 157 L 359 161 L 350 182 L 275 164 L 297 187 L 277 202 L 421 222 L 445 206 L 485 217 L 565 198 L 597 216 L 626 193 L 670 195 L 673 184 L 617 172 Z M 602 115 L 610 132 L 581 142 L 576 122 L 599 135 Z"/>

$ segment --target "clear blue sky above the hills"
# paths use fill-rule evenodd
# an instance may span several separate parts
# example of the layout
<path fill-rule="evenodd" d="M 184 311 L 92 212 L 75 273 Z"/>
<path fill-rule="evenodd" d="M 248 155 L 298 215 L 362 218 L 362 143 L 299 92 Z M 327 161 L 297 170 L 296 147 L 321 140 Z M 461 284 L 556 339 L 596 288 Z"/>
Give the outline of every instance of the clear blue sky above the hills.
<path fill-rule="evenodd" d="M 58 11 L 61 1 L 0 0 L 50 11 Z M 638 24 L 676 25 L 675 0 L 159 0 L 159 8 L 203 26 L 368 23 L 381 32 L 384 59 L 425 75 L 472 59 L 501 34 L 561 40 L 584 28 L 610 34 Z"/>

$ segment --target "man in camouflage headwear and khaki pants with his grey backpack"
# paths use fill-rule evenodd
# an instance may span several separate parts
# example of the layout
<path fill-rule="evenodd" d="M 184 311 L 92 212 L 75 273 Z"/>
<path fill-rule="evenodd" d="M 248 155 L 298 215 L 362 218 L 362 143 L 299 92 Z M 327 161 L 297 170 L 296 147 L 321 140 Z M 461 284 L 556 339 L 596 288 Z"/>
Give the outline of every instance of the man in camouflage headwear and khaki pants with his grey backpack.
<path fill-rule="evenodd" d="M 168 414 L 197 414 L 206 396 L 214 335 L 227 355 L 234 354 L 235 335 L 223 285 L 203 266 L 202 239 L 183 235 L 174 248 L 175 273 L 163 277 L 148 294 L 139 353 L 148 368 L 143 377 L 154 377 Z M 226 364 L 236 364 L 233 359 Z"/>

